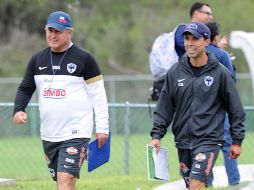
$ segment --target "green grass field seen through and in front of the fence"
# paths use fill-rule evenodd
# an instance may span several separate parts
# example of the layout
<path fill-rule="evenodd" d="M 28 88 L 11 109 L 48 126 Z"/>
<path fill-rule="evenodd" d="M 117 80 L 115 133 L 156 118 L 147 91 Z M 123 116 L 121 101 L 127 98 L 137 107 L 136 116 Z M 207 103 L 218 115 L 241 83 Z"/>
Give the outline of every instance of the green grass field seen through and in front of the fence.
<path fill-rule="evenodd" d="M 240 164 L 254 163 L 251 154 L 254 146 L 253 135 L 253 132 L 246 134 L 243 154 L 239 158 Z M 131 135 L 128 139 L 124 139 L 122 135 L 112 134 L 111 140 L 110 162 L 91 173 L 87 172 L 85 162 L 81 170 L 81 179 L 78 181 L 78 189 L 114 190 L 121 187 L 123 190 L 136 190 L 140 187 L 142 190 L 150 190 L 163 184 L 147 180 L 145 145 L 150 142 L 148 134 Z M 181 179 L 171 134 L 164 137 L 162 145 L 169 148 L 170 181 Z M 17 179 L 17 185 L 0 189 L 55 189 L 47 171 L 38 137 L 1 138 L 0 150 L 0 177 Z M 216 165 L 223 165 L 222 154 Z"/>

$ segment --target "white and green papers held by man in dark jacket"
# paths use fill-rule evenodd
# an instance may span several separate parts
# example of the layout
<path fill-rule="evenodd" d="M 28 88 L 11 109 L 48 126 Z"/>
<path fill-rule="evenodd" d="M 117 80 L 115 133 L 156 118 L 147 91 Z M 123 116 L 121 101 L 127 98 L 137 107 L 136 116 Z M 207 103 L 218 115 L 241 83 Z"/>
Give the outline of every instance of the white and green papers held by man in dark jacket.
<path fill-rule="evenodd" d="M 169 180 L 168 149 L 161 147 L 159 152 L 152 145 L 146 145 L 147 170 L 149 180 Z"/>

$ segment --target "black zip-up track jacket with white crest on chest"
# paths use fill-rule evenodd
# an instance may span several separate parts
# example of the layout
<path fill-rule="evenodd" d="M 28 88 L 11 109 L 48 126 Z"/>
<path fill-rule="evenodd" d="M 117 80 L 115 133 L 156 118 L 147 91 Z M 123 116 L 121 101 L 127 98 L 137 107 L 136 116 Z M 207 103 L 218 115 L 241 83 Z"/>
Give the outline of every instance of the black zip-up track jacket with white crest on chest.
<path fill-rule="evenodd" d="M 245 113 L 234 80 L 213 54 L 207 54 L 208 64 L 198 77 L 187 54 L 168 71 L 153 115 L 152 139 L 161 139 L 173 120 L 177 148 L 222 144 L 227 111 L 233 144 L 241 145 Z"/>

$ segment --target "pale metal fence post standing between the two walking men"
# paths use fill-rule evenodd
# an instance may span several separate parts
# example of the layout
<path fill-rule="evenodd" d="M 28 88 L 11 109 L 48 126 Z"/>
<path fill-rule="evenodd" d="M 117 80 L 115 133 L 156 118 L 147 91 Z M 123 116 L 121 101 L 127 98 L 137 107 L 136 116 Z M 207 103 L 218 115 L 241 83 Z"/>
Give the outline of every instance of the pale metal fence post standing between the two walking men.
<path fill-rule="evenodd" d="M 130 103 L 125 103 L 124 116 L 124 174 L 129 174 Z"/>

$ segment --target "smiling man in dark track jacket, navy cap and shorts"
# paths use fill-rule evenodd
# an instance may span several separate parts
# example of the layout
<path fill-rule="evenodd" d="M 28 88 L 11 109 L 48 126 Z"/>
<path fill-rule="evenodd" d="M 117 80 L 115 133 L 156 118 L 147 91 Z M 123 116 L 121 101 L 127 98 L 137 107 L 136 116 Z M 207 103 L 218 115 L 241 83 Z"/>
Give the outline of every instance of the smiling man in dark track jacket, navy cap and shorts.
<path fill-rule="evenodd" d="M 161 138 L 173 122 L 180 173 L 186 187 L 194 190 L 208 186 L 207 179 L 223 143 L 226 111 L 233 139 L 231 157 L 240 155 L 245 113 L 229 71 L 206 52 L 209 28 L 192 22 L 183 36 L 186 53 L 166 75 L 150 135 L 158 151 Z"/>

